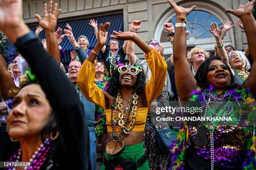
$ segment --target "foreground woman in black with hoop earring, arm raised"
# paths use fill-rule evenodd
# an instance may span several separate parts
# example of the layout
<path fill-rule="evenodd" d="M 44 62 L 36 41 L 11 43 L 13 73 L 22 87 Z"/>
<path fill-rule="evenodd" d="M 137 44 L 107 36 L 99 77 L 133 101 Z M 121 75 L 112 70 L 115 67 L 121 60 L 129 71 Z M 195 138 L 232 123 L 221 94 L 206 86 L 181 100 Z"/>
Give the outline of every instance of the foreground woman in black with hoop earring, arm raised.
<path fill-rule="evenodd" d="M 47 5 L 44 7 L 47 12 Z M 60 9 L 56 7 L 50 1 L 48 15 L 57 17 Z M 25 56 L 36 76 L 27 72 L 22 88 L 11 90 L 13 108 L 7 127 L 13 142 L 0 153 L 0 160 L 29 161 L 30 165 L 24 168 L 28 170 L 87 170 L 88 130 L 73 85 L 25 24 L 21 0 L 1 2 L 0 13 L 0 29 Z"/>

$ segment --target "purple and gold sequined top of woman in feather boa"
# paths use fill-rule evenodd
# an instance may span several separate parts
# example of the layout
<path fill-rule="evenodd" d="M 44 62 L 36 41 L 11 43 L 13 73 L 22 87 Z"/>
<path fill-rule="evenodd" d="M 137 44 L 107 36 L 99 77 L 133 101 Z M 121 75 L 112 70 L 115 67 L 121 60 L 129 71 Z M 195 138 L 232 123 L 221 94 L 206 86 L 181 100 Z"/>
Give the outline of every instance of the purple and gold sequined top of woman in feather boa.
<path fill-rule="evenodd" d="M 252 136 L 252 131 L 247 131 L 244 127 L 236 127 L 228 133 L 222 133 L 223 130 L 229 130 L 231 127 L 218 127 L 214 130 L 214 164 L 226 167 L 236 167 L 241 165 L 243 159 L 246 157 L 244 150 L 246 150 L 247 139 Z M 219 131 L 221 129 L 222 131 Z M 195 140 L 197 135 L 197 128 L 190 127 L 190 141 Z M 209 160 L 210 155 L 210 133 L 206 133 L 208 144 L 202 147 L 195 145 L 195 152 L 202 158 Z"/>

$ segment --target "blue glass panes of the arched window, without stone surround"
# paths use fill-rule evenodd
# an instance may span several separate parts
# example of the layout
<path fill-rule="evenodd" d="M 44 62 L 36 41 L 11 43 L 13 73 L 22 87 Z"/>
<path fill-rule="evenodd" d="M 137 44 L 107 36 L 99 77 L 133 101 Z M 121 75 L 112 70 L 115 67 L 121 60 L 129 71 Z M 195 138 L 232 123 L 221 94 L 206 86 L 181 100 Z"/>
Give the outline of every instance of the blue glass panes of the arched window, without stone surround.
<path fill-rule="evenodd" d="M 213 37 L 212 33 L 209 31 L 210 23 L 216 22 L 219 27 L 223 24 L 221 21 L 213 14 L 208 13 L 202 10 L 193 10 L 188 16 L 187 21 L 194 27 L 192 29 L 187 25 L 187 31 L 189 31 L 189 35 L 187 36 L 187 40 L 195 40 L 195 39 L 203 39 Z M 176 23 L 176 15 L 169 20 L 172 25 Z M 162 31 L 161 34 L 161 42 L 168 42 L 169 35 L 165 30 Z"/>

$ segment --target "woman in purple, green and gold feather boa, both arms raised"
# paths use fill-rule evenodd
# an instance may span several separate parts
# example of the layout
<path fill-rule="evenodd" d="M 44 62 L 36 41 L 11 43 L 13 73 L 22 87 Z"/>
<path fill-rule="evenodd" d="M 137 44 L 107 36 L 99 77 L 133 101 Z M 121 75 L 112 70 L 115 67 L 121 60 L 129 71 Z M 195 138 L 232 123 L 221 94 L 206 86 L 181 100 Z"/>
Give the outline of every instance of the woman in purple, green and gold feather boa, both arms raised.
<path fill-rule="evenodd" d="M 220 101 L 253 101 L 253 95 L 256 94 L 256 43 L 254 42 L 256 23 L 252 16 L 252 9 L 256 0 L 239 6 L 237 10 L 226 10 L 242 20 L 250 53 L 254 59 L 251 74 L 241 87 L 234 84 L 230 68 L 219 57 L 210 57 L 205 60 L 200 65 L 195 78 L 192 76 L 186 60 L 186 30 L 184 27 L 187 15 L 196 6 L 183 8 L 172 0 L 168 0 L 168 2 L 177 15 L 174 35 L 174 69 L 180 100 L 216 103 Z M 216 107 L 223 108 L 224 106 Z M 226 109 L 223 113 L 235 115 L 238 111 L 231 113 Z M 213 113 L 205 112 L 205 114 Z M 171 168 L 189 170 L 255 169 L 253 129 L 253 127 L 239 125 L 184 126 L 179 130 L 177 142 L 170 147 Z"/>

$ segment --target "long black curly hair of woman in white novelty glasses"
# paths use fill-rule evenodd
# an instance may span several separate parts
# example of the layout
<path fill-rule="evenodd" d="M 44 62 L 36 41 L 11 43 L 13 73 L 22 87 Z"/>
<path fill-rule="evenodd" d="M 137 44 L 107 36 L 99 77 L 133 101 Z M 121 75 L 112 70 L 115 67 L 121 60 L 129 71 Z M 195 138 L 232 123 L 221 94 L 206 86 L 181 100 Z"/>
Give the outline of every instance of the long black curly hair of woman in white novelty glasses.
<path fill-rule="evenodd" d="M 135 65 L 134 65 L 135 66 Z M 118 69 L 115 69 L 112 77 L 108 81 L 106 92 L 108 92 L 111 96 L 115 97 L 118 95 L 118 91 L 121 90 L 121 85 L 119 83 L 119 75 Z M 137 74 L 137 80 L 134 85 L 134 91 L 137 93 L 137 95 L 141 95 L 146 86 L 146 77 L 143 72 L 139 72 Z"/>

